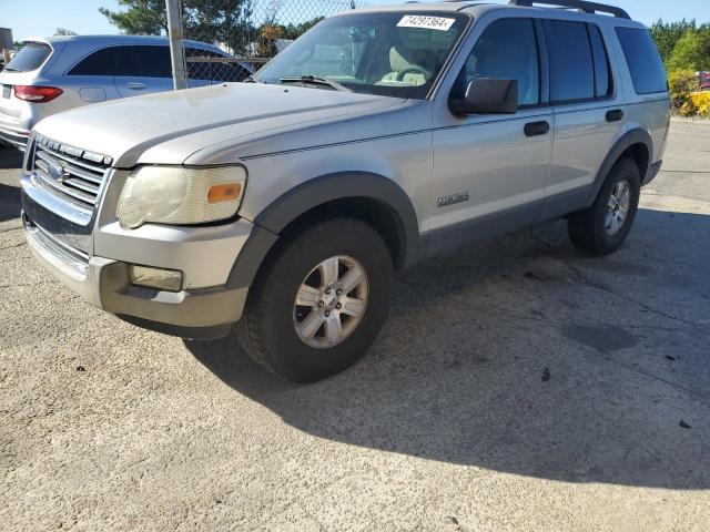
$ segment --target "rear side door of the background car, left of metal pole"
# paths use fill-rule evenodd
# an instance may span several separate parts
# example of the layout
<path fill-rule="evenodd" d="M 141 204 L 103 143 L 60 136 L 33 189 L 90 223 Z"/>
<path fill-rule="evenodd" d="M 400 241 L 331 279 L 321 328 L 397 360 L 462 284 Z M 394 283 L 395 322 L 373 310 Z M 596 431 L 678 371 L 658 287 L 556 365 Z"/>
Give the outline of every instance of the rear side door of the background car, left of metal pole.
<path fill-rule="evenodd" d="M 172 90 L 170 48 L 121 47 L 114 81 L 121 98 Z"/>

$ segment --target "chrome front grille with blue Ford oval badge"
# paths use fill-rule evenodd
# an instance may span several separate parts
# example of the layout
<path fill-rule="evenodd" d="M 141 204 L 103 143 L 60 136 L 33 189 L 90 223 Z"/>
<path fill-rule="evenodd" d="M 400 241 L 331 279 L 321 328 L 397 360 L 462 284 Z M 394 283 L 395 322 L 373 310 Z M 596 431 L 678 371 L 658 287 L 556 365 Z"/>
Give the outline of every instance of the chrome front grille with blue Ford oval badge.
<path fill-rule="evenodd" d="M 111 157 L 36 136 L 28 166 L 37 184 L 83 212 L 93 212 Z"/>

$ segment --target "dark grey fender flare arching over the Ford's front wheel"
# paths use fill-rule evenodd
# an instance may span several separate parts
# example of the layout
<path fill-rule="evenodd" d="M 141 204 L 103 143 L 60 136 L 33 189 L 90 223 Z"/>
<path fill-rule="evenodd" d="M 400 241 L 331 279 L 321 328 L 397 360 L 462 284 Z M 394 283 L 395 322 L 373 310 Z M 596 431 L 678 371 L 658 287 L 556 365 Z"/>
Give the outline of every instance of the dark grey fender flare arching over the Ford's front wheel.
<path fill-rule="evenodd" d="M 254 228 L 240 252 L 227 288 L 251 286 L 258 268 L 278 235 L 298 216 L 308 211 L 345 198 L 375 200 L 387 207 L 397 228 L 399 268 L 418 263 L 425 255 L 419 241 L 419 225 L 412 201 L 392 180 L 369 172 L 338 172 L 322 175 L 288 191 L 254 218 Z"/>

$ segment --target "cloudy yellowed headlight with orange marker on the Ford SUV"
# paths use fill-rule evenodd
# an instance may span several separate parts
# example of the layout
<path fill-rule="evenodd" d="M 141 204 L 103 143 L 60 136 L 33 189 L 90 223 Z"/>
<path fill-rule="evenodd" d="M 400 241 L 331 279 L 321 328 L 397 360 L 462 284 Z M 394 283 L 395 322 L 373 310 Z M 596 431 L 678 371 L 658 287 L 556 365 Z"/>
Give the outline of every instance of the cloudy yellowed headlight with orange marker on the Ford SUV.
<path fill-rule="evenodd" d="M 242 203 L 243 166 L 142 166 L 129 175 L 119 197 L 122 227 L 145 222 L 203 224 L 234 216 Z"/>

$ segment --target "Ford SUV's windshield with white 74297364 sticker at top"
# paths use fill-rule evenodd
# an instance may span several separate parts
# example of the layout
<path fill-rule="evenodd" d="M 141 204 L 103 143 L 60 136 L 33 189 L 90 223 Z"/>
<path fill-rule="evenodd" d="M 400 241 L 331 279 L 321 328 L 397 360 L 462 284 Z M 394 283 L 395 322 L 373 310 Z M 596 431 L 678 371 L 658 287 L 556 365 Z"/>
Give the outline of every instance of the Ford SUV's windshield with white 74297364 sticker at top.
<path fill-rule="evenodd" d="M 316 24 L 258 71 L 264 83 L 315 76 L 361 93 L 425 99 L 468 22 L 463 13 L 354 13 Z M 304 78 L 307 86 L 333 89 Z"/>

